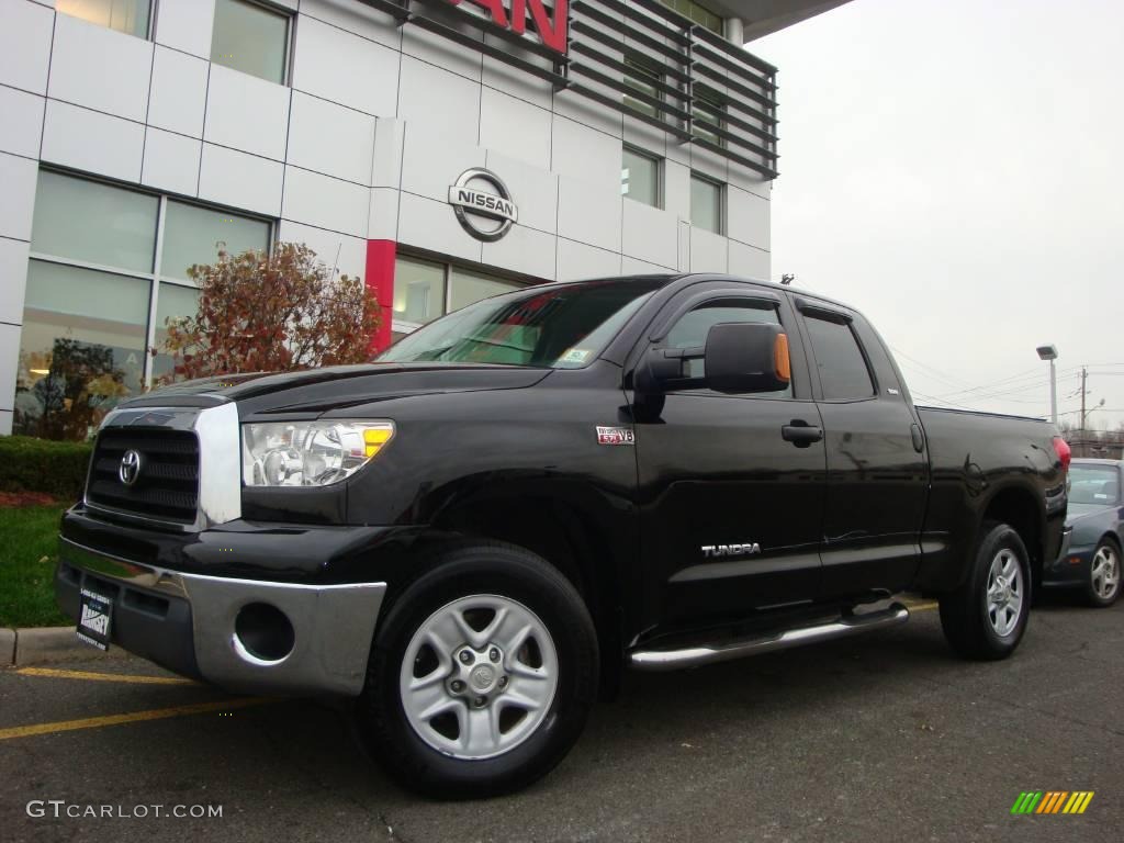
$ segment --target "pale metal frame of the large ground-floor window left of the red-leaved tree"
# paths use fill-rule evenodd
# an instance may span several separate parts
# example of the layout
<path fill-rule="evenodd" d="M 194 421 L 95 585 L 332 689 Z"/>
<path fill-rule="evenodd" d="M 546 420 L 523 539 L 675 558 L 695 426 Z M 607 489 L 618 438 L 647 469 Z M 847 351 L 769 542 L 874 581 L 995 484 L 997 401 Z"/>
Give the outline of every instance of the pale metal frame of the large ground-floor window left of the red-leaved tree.
<path fill-rule="evenodd" d="M 40 171 L 55 173 L 56 175 L 62 175 L 69 179 L 75 179 L 78 181 L 93 182 L 96 184 L 103 184 L 109 188 L 118 188 L 123 190 L 128 190 L 134 193 L 143 193 L 145 196 L 156 197 L 160 201 L 156 208 L 156 238 L 153 247 L 152 257 L 152 271 L 142 272 L 139 270 L 123 269 L 119 266 L 111 266 L 107 264 L 93 263 L 91 261 L 81 261 L 74 257 L 63 257 L 60 255 L 52 255 L 43 252 L 29 252 L 28 263 L 31 261 L 39 261 L 40 263 L 54 263 L 63 266 L 73 266 L 80 270 L 92 270 L 96 272 L 105 272 L 110 275 L 121 275 L 125 278 L 135 278 L 142 281 L 148 282 L 148 320 L 145 328 L 145 347 L 144 347 L 144 373 L 142 377 L 142 384 L 144 388 L 152 389 L 152 377 L 153 377 L 153 365 L 155 363 L 155 356 L 149 353 L 149 350 L 155 347 L 156 344 L 156 306 L 160 297 L 160 284 L 175 284 L 178 287 L 184 287 L 192 290 L 198 290 L 196 284 L 191 283 L 190 279 L 175 278 L 174 275 L 164 275 L 161 272 L 161 263 L 164 256 L 164 229 L 167 221 L 167 205 L 170 201 L 182 202 L 183 205 L 193 205 L 199 208 L 205 208 L 207 210 L 216 211 L 229 211 L 232 215 L 243 217 L 245 219 L 254 219 L 266 225 L 266 236 L 265 244 L 269 253 L 272 254 L 273 246 L 277 237 L 277 220 L 270 217 L 263 217 L 257 214 L 248 214 L 236 208 L 229 208 L 221 205 L 210 205 L 208 202 L 200 202 L 197 199 L 191 199 L 190 197 L 180 197 L 171 193 L 162 193 L 154 190 L 143 190 L 138 189 L 135 184 L 126 184 L 121 182 L 112 181 L 111 179 L 102 179 L 97 176 L 90 176 L 84 173 L 74 173 L 58 167 L 42 166 Z M 27 279 L 25 277 L 25 284 Z"/>

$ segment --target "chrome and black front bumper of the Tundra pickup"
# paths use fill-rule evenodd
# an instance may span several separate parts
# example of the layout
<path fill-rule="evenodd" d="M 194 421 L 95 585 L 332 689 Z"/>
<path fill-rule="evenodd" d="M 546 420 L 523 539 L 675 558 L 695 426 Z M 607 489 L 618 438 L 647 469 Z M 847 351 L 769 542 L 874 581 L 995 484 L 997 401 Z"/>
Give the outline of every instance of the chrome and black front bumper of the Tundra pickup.
<path fill-rule="evenodd" d="M 387 583 L 306 586 L 180 573 L 60 538 L 55 588 L 74 617 L 82 588 L 111 597 L 112 643 L 178 673 L 239 694 L 356 696 Z M 291 649 L 280 658 L 262 658 L 246 635 L 254 613 L 244 609 L 260 604 L 291 625 Z"/>

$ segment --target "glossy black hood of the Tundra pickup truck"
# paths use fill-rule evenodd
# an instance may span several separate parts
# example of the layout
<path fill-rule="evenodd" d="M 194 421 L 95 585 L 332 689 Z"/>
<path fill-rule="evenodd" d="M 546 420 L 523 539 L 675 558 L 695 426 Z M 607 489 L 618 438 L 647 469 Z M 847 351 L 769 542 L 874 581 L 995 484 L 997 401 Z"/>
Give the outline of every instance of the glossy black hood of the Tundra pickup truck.
<path fill-rule="evenodd" d="M 252 413 L 323 413 L 411 395 L 523 389 L 552 371 L 472 363 L 364 363 L 301 372 L 253 372 L 184 381 L 123 406 L 220 397 Z"/>

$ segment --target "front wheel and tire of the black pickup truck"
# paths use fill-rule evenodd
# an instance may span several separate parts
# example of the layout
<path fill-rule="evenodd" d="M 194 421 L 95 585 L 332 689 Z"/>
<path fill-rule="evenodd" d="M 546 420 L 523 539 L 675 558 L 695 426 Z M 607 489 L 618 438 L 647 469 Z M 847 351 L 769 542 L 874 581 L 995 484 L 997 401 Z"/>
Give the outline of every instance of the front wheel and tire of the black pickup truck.
<path fill-rule="evenodd" d="M 423 570 L 375 632 L 359 734 L 425 796 L 524 788 L 565 756 L 597 699 L 589 611 L 558 570 L 511 545 L 445 550 Z"/>

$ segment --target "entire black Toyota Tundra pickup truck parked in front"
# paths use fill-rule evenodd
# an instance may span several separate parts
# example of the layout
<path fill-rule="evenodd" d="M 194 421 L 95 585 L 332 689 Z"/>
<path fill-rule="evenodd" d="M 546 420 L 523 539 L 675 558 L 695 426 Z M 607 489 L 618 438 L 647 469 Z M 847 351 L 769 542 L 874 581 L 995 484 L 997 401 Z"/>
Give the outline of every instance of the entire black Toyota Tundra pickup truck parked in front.
<path fill-rule="evenodd" d="M 369 365 L 162 389 L 62 520 L 90 643 L 354 698 L 420 791 L 534 781 L 622 671 L 887 627 L 1001 659 L 1062 544 L 1048 424 L 918 409 L 855 310 L 691 274 L 546 284 Z M 669 680 L 671 681 L 671 680 Z"/>

